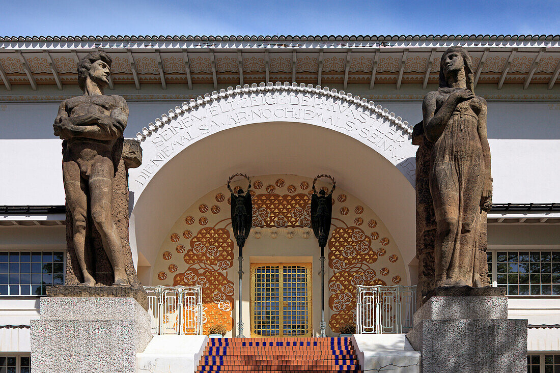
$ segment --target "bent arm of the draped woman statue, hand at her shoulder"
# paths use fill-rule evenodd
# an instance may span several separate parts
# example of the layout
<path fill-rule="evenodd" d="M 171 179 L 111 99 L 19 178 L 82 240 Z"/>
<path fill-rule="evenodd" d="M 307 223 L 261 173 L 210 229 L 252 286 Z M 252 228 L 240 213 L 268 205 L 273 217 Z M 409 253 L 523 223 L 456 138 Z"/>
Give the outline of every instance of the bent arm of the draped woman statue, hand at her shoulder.
<path fill-rule="evenodd" d="M 437 110 L 436 113 L 437 94 L 437 91 L 429 92 L 424 96 L 424 101 L 422 102 L 424 133 L 430 142 L 436 142 L 441 134 L 444 133 L 447 122 L 449 122 L 457 104 L 474 97 L 473 92 L 467 89 L 455 90 L 451 92 L 444 104 L 441 105 L 440 110 Z"/>

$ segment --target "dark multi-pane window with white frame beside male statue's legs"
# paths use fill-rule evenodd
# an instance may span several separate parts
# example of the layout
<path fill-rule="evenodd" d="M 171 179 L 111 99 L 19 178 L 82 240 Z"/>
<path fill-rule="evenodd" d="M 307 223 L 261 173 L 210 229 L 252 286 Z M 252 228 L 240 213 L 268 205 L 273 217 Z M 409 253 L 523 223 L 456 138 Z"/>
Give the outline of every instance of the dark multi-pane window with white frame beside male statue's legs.
<path fill-rule="evenodd" d="M 0 251 L 0 295 L 46 295 L 62 283 L 63 251 Z"/>

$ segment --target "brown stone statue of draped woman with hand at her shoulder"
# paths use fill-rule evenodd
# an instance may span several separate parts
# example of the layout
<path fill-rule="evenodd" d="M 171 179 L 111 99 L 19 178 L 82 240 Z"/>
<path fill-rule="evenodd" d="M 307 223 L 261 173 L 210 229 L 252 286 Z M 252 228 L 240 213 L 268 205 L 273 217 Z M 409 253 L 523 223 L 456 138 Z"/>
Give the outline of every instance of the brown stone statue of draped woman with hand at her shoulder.
<path fill-rule="evenodd" d="M 486 100 L 474 95 L 472 59 L 461 46 L 441 57 L 440 88 L 422 105 L 432 146 L 430 192 L 436 217 L 435 286 L 482 287 L 479 231 L 492 206 Z M 483 215 L 482 215 L 483 214 Z"/>

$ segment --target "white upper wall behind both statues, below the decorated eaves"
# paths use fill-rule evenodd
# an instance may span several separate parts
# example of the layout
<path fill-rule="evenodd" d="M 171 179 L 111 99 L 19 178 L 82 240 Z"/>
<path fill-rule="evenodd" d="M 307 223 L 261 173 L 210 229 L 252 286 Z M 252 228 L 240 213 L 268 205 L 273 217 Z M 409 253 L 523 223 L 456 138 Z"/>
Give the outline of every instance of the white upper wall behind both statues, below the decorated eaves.
<path fill-rule="evenodd" d="M 410 85 L 395 90 L 393 85 L 377 85 L 374 91 L 365 86 L 349 85 L 347 92 L 372 95 L 376 104 L 402 116 L 410 124 L 421 120 L 421 100 L 427 90 Z M 198 88 L 194 95 L 212 92 L 213 87 Z M 554 172 L 560 159 L 560 95 L 556 101 L 533 101 L 531 94 L 546 93 L 556 97 L 560 87 L 519 87 L 506 85 L 498 91 L 494 85 L 479 85 L 477 94 L 488 99 L 488 137 L 492 152 L 494 203 L 547 203 L 560 201 L 560 174 Z M 0 87 L 0 205 L 4 204 L 64 204 L 60 181 L 60 141 L 52 135 L 52 123 L 60 100 L 56 97 L 77 95 L 77 87 L 39 86 L 32 92 L 28 87 L 14 86 L 10 95 L 34 95 L 35 101 L 1 101 L 8 92 Z M 118 94 L 136 93 L 133 86 L 118 86 Z M 184 94 L 181 87 L 170 86 L 162 91 L 157 85 L 146 86 L 148 94 Z M 498 94 L 507 99 L 497 99 Z M 36 101 L 38 97 L 50 101 Z M 375 97 L 379 96 L 379 100 Z M 391 97 L 401 97 L 394 99 Z M 518 97 L 512 99 L 511 97 Z M 130 116 L 126 137 L 134 137 L 153 119 L 180 105 L 183 100 L 129 101 Z M 5 176 L 9 175 L 9 176 Z M 38 181 L 40 180 L 40 182 Z"/>

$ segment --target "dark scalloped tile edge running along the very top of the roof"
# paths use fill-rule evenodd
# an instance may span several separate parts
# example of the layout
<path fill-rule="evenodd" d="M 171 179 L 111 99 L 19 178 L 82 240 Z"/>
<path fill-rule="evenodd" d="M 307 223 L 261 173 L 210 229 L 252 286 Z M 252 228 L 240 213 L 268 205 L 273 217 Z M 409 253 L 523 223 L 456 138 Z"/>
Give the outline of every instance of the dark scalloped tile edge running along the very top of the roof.
<path fill-rule="evenodd" d="M 0 36 L 0 41 L 415 41 L 560 40 L 560 35 L 82 35 Z"/>

